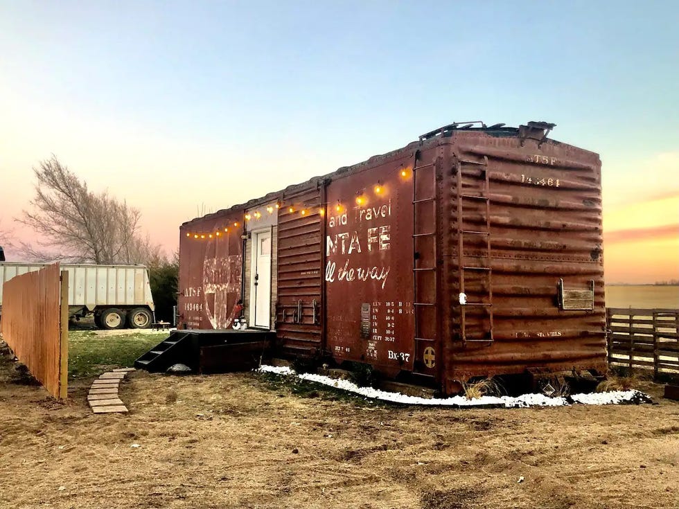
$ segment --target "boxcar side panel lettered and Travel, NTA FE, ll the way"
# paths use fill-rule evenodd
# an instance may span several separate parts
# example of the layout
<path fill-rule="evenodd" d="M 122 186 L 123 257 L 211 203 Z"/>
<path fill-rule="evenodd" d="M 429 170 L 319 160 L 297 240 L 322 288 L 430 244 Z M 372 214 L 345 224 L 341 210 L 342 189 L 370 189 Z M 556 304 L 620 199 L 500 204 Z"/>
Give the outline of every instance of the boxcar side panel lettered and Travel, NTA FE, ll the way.
<path fill-rule="evenodd" d="M 416 354 L 412 185 L 412 152 L 404 150 L 327 188 L 328 350 L 391 375 L 412 370 Z"/>

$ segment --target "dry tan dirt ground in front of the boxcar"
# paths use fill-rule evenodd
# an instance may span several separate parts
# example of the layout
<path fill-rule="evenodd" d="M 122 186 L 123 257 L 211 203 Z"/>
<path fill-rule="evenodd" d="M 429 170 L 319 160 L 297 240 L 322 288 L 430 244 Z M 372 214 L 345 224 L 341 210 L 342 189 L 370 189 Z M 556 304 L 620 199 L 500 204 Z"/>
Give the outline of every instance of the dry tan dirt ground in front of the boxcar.
<path fill-rule="evenodd" d="M 130 413 L 95 416 L 89 382 L 60 404 L 0 357 L 1 508 L 679 507 L 660 386 L 655 405 L 457 410 L 135 372 Z"/>

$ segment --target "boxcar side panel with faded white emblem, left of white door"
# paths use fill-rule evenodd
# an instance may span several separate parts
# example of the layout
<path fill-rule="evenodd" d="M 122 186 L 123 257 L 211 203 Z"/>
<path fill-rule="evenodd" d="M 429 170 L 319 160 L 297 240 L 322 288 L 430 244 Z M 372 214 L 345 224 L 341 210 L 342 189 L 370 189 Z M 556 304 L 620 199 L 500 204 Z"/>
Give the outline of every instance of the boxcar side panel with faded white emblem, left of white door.
<path fill-rule="evenodd" d="M 231 327 L 242 278 L 240 216 L 206 217 L 179 229 L 179 328 Z"/>

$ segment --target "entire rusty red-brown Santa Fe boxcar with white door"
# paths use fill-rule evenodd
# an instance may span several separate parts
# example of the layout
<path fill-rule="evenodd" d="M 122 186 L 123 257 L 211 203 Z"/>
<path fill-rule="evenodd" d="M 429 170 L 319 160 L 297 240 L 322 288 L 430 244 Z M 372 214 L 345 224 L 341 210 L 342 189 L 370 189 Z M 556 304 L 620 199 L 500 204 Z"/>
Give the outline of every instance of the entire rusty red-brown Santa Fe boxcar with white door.
<path fill-rule="evenodd" d="M 182 224 L 180 328 L 459 391 L 606 370 L 601 161 L 554 125 L 454 123 Z"/>

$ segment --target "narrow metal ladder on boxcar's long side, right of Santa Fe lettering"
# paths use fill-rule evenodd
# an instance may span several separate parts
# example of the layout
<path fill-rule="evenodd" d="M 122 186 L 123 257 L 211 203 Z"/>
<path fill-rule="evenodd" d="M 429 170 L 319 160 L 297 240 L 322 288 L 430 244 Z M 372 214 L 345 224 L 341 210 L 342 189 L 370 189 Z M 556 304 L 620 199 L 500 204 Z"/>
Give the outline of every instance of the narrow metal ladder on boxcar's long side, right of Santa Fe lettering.
<path fill-rule="evenodd" d="M 436 316 L 436 165 L 434 162 L 417 166 L 418 152 L 414 154 L 412 179 L 413 179 L 413 307 L 414 307 L 414 325 L 415 325 L 415 359 L 423 359 L 423 364 L 426 368 L 434 368 L 435 361 L 433 354 L 427 352 L 427 347 L 432 347 L 431 352 L 436 343 L 437 330 L 437 316 Z M 430 173 L 430 177 L 425 177 L 425 173 Z M 418 185 L 418 179 L 427 179 L 430 182 L 431 193 L 421 191 L 421 186 Z M 424 194 L 424 195 L 423 195 Z M 423 215 L 420 211 L 421 207 L 432 207 L 432 221 L 427 224 L 422 224 L 420 216 Z M 430 239 L 430 247 L 422 252 L 418 248 L 418 239 Z M 426 298 L 423 291 L 422 277 L 427 277 L 431 280 L 429 286 L 430 298 Z M 432 298 L 433 296 L 433 298 Z M 427 322 L 433 328 L 434 334 L 423 332 L 422 315 L 427 314 Z M 427 357 L 429 355 L 429 357 Z M 414 364 L 414 373 L 420 376 L 433 377 L 430 373 L 423 373 L 418 370 Z"/>

